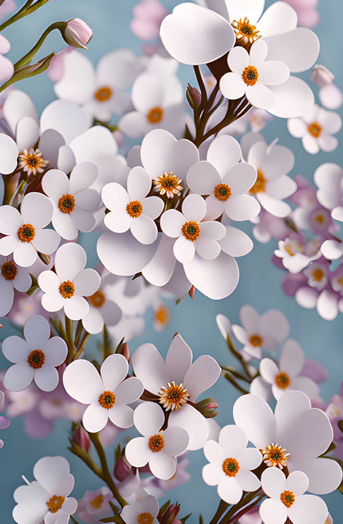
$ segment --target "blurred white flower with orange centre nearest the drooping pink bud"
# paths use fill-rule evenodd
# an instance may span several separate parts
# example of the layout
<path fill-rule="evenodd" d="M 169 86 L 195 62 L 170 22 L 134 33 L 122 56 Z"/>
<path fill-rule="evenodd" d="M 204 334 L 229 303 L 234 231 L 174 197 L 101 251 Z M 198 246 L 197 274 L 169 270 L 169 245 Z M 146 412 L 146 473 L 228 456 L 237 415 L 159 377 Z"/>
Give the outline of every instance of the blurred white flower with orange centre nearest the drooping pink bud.
<path fill-rule="evenodd" d="M 63 76 L 54 85 L 60 99 L 81 105 L 100 122 L 108 122 L 113 113 L 121 116 L 132 107 L 130 93 L 123 91 L 130 87 L 142 68 L 130 49 L 104 54 L 96 70 L 90 59 L 73 50 L 64 56 L 63 66 Z"/>

